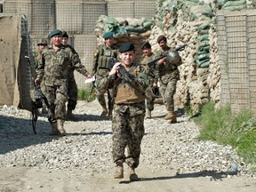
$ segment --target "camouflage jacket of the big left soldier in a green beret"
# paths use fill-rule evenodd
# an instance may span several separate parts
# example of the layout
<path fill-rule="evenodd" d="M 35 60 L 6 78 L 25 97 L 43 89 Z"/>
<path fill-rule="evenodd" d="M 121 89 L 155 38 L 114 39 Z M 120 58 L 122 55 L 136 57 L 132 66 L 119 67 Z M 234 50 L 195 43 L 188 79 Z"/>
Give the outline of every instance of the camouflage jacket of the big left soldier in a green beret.
<path fill-rule="evenodd" d="M 89 74 L 78 55 L 74 54 L 70 48 L 60 45 L 59 50 L 55 52 L 52 46 L 48 46 L 42 52 L 42 60 L 36 69 L 36 77 L 43 80 L 45 86 L 68 84 L 70 68 L 75 68 L 84 76 Z"/>

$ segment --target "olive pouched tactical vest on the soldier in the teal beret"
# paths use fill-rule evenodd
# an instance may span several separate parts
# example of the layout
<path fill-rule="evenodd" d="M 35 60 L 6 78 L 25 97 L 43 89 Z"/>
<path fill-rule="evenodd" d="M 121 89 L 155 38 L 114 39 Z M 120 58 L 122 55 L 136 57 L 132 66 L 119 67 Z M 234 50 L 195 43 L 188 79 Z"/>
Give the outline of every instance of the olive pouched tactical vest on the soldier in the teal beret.
<path fill-rule="evenodd" d="M 100 47 L 99 59 L 98 59 L 98 68 L 112 68 L 111 58 L 116 62 L 117 52 L 116 50 L 107 49 L 105 46 Z"/>

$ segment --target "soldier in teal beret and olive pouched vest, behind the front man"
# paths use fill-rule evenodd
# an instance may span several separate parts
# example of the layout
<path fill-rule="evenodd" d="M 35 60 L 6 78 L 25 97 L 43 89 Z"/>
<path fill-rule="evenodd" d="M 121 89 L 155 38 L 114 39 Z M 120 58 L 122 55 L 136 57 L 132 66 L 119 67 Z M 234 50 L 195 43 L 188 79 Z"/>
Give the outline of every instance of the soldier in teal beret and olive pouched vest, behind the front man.
<path fill-rule="evenodd" d="M 108 76 L 111 66 L 111 60 L 114 60 L 113 64 L 117 60 L 117 47 L 114 44 L 114 33 L 107 32 L 103 35 L 104 44 L 97 47 L 93 53 L 93 63 L 92 71 L 96 76 L 96 98 L 102 107 L 101 115 L 102 117 L 112 116 L 113 110 L 113 93 L 112 90 L 108 89 L 108 108 L 105 100 L 105 92 L 101 92 L 97 87 L 97 82 L 100 81 L 105 76 Z"/>

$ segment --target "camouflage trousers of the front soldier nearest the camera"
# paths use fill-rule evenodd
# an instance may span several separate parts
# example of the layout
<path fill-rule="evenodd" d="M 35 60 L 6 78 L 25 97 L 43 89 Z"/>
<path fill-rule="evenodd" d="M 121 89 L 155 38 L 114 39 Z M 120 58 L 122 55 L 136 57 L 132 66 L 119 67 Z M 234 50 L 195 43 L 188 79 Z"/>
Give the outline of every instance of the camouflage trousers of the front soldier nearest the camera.
<path fill-rule="evenodd" d="M 114 163 L 126 163 L 132 168 L 140 163 L 140 143 L 143 138 L 145 102 L 114 105 L 112 118 Z M 127 156 L 125 156 L 127 148 Z"/>

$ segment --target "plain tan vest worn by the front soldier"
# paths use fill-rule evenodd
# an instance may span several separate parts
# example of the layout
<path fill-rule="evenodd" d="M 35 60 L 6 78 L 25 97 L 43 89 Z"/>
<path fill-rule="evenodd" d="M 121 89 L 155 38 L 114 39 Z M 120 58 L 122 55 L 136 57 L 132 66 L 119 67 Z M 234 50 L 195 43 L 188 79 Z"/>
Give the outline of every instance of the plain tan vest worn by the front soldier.
<path fill-rule="evenodd" d="M 140 73 L 140 66 L 134 68 L 134 70 L 129 71 L 134 76 L 138 76 Z M 116 104 L 129 104 L 129 103 L 140 103 L 141 101 L 145 100 L 146 96 L 144 92 L 140 92 L 132 88 L 129 84 L 117 84 L 116 85 Z"/>

